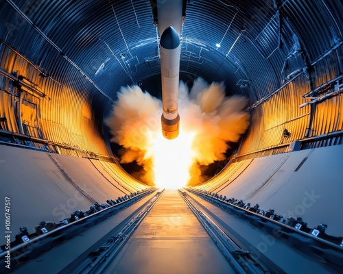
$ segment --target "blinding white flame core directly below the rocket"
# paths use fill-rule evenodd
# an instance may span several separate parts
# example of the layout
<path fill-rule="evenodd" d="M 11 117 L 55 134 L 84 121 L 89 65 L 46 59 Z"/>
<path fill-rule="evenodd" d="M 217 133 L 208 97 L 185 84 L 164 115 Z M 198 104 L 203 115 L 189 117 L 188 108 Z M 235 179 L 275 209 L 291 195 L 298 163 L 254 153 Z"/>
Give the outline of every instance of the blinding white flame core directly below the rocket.
<path fill-rule="evenodd" d="M 154 182 L 159 188 L 177 189 L 185 186 L 196 151 L 192 149 L 195 133 L 180 129 L 178 138 L 167 140 L 161 132 L 151 134 L 150 149 L 145 154 L 152 159 Z"/>

